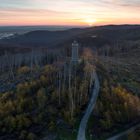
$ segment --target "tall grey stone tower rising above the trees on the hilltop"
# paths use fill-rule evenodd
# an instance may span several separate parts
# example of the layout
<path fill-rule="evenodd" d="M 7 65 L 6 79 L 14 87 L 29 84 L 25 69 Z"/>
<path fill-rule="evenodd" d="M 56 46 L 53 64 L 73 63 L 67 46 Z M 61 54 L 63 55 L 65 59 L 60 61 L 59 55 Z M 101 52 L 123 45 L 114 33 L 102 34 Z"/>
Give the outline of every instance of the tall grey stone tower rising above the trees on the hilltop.
<path fill-rule="evenodd" d="M 72 63 L 78 63 L 79 56 L 78 56 L 79 44 L 77 41 L 72 43 Z"/>

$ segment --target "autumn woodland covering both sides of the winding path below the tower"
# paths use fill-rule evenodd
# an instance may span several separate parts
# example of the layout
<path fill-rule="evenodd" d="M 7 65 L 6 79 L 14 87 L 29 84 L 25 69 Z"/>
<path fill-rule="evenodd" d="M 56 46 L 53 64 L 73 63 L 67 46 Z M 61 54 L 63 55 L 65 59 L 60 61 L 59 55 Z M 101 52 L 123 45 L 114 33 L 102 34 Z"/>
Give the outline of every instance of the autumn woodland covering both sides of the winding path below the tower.
<path fill-rule="evenodd" d="M 6 82 L 19 82 L 0 94 L 1 139 L 39 139 L 44 130 L 57 138 L 61 127 L 72 132 L 89 101 L 95 62 L 101 89 L 87 133 L 95 139 L 101 138 L 100 134 L 104 138 L 123 125 L 129 127 L 140 121 L 139 97 L 122 86 L 116 73 L 108 71 L 109 66 L 100 63 L 90 48 L 83 48 L 81 62 L 76 65 L 69 59 L 62 61 L 58 54 L 44 55 L 42 51 L 38 55 L 32 50 L 4 56 L 5 64 L 10 64 L 8 60 L 14 64 L 1 65 L 1 76 L 12 78 Z"/>

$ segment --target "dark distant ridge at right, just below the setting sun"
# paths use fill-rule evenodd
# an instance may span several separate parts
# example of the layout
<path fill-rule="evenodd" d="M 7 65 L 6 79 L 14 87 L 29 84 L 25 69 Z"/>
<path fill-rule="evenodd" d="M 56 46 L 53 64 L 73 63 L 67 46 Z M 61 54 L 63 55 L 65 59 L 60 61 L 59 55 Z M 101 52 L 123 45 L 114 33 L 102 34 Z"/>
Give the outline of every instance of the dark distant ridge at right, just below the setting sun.
<path fill-rule="evenodd" d="M 89 36 L 97 36 L 108 40 L 140 39 L 140 25 L 108 25 L 88 28 Z"/>

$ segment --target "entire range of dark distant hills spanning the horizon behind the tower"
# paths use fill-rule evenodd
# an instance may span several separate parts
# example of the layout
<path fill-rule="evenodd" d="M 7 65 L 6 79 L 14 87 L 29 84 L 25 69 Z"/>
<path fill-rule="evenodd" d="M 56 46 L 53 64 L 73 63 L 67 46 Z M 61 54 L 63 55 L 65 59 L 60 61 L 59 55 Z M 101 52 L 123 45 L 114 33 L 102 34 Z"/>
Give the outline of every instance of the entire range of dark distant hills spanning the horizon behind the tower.
<path fill-rule="evenodd" d="M 16 35 L 1 42 L 24 46 L 56 46 L 77 39 L 83 44 L 100 46 L 118 40 L 140 40 L 140 25 L 108 25 L 90 28 L 75 28 L 64 31 L 31 31 Z"/>

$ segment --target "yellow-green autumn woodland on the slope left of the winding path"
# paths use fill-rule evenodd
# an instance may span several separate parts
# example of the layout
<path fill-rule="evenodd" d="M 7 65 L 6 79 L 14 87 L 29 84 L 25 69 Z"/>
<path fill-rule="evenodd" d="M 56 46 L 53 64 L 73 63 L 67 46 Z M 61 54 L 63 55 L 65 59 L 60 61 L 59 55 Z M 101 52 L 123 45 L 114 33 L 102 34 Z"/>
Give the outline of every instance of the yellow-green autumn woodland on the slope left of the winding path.
<path fill-rule="evenodd" d="M 1 139 L 36 139 L 44 127 L 51 132 L 64 122 L 73 127 L 88 102 L 92 85 L 92 69 L 88 67 L 84 61 L 46 65 L 40 68 L 38 78 L 1 93 Z M 23 66 L 17 74 L 28 76 L 30 71 L 31 67 Z"/>

